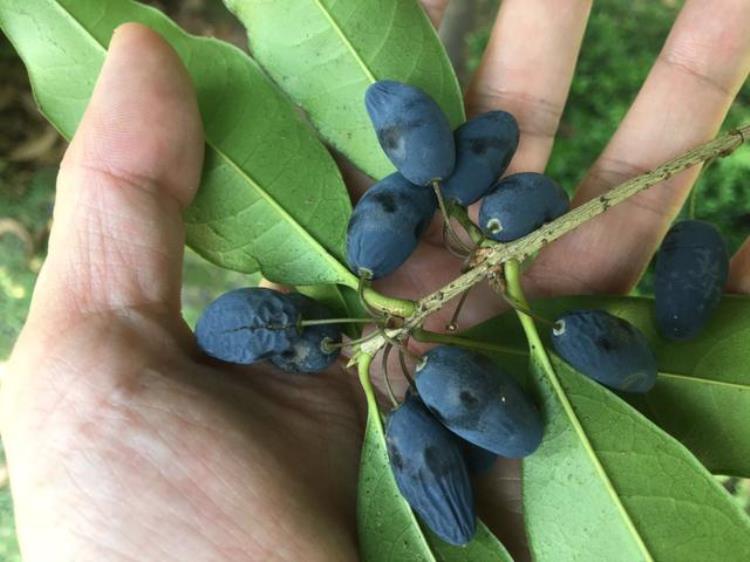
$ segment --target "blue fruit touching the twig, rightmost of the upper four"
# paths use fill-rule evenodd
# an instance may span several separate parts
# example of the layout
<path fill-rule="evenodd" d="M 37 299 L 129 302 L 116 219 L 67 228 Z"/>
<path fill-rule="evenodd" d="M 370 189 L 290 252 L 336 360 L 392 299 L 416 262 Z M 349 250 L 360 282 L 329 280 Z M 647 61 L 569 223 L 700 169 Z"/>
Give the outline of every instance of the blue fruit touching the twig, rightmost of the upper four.
<path fill-rule="evenodd" d="M 482 200 L 479 226 L 493 240 L 511 242 L 565 214 L 569 206 L 565 190 L 544 174 L 513 174 Z"/>

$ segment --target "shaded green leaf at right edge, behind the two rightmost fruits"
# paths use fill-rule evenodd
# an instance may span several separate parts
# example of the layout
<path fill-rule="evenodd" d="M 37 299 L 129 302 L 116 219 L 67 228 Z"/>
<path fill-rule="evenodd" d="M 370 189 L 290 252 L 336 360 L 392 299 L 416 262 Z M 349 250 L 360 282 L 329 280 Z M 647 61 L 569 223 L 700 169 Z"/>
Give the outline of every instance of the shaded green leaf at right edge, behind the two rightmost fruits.
<path fill-rule="evenodd" d="M 750 477 L 750 299 L 724 296 L 702 334 L 689 342 L 658 335 L 651 299 L 584 296 L 534 303 L 534 310 L 549 319 L 576 308 L 607 310 L 643 330 L 657 356 L 659 376 L 645 396 L 627 399 L 712 472 Z M 526 350 L 513 314 L 492 319 L 466 336 L 515 353 Z M 506 362 L 513 360 L 506 356 Z"/>

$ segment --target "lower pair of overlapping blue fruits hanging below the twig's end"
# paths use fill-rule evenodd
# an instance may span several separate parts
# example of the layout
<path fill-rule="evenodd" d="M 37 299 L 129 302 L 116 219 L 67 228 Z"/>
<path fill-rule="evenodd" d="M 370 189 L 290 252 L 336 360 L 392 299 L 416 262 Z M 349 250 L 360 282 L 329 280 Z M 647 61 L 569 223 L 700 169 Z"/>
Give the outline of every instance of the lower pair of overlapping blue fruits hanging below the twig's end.
<path fill-rule="evenodd" d="M 542 441 L 542 417 L 516 380 L 490 359 L 439 346 L 417 366 L 415 388 L 388 416 L 386 442 L 401 494 L 454 545 L 476 530 L 470 473 L 498 455 L 520 458 Z"/>

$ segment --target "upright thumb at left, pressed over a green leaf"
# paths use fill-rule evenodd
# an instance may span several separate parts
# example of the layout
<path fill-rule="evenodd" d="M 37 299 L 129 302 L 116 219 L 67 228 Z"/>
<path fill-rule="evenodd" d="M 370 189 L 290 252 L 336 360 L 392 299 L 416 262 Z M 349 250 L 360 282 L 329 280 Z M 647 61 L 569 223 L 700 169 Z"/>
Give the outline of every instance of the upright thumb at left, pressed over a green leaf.
<path fill-rule="evenodd" d="M 182 210 L 199 183 L 203 146 L 176 53 L 146 27 L 118 28 L 60 167 L 31 315 L 152 306 L 178 313 Z"/>

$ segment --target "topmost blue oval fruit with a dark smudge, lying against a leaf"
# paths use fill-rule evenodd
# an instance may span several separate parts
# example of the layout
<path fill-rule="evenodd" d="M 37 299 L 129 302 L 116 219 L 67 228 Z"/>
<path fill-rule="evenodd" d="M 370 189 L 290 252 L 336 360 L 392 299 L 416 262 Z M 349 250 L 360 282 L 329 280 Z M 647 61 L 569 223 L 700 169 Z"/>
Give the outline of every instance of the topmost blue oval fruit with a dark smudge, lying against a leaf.
<path fill-rule="evenodd" d="M 453 172 L 453 131 L 443 110 L 425 92 L 381 80 L 367 89 L 365 105 L 380 146 L 406 179 L 428 185 Z"/>

